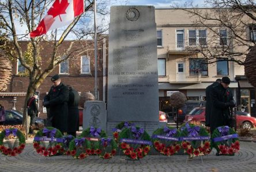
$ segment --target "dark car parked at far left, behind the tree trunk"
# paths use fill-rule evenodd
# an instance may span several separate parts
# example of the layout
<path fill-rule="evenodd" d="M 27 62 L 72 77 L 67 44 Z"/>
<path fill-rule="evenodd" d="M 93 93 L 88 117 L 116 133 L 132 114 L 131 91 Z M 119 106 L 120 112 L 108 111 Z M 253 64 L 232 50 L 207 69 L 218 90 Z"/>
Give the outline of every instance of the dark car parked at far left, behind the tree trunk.
<path fill-rule="evenodd" d="M 23 120 L 23 114 L 20 111 L 16 111 L 16 110 L 5 110 L 5 121 L 1 122 L 1 125 L 20 125 L 22 124 L 22 120 Z M 39 125 L 43 125 L 44 124 L 44 120 L 41 118 L 35 118 L 35 125 L 39 126 Z"/>

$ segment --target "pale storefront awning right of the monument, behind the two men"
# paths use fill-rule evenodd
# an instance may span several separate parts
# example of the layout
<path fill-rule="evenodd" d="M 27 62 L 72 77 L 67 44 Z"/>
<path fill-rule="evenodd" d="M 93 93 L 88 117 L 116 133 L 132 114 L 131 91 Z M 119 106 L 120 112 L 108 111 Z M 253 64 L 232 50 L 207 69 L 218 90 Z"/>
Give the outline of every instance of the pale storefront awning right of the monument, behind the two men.
<path fill-rule="evenodd" d="M 197 83 L 197 84 L 170 84 L 170 83 L 159 83 L 159 89 L 205 89 L 212 83 Z M 238 88 L 238 83 L 232 82 L 229 84 L 230 88 Z"/>

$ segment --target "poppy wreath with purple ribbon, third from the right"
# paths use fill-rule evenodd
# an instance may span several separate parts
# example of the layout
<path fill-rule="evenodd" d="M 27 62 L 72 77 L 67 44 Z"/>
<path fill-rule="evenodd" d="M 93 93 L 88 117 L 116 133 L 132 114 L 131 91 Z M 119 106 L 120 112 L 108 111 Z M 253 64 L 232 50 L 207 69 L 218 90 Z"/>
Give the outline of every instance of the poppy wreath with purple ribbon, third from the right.
<path fill-rule="evenodd" d="M 160 154 L 170 156 L 180 150 L 180 132 L 174 127 L 158 128 L 152 134 L 153 147 Z"/>

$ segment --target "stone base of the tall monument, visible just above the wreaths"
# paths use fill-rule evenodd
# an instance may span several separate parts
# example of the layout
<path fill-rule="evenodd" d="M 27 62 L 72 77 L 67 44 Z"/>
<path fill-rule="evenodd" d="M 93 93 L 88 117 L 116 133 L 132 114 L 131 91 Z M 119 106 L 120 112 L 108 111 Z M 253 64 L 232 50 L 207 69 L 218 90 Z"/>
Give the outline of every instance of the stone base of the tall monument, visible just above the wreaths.
<path fill-rule="evenodd" d="M 113 131 L 112 129 L 115 128 L 119 123 L 121 122 L 107 122 L 107 135 L 108 136 L 112 136 Z M 144 130 L 146 132 L 148 132 L 148 134 L 151 136 L 153 134 L 153 132 L 157 129 L 157 128 L 161 128 L 166 126 L 165 122 L 148 122 L 148 121 L 133 121 L 132 123 L 135 124 L 135 126 L 138 126 L 140 128 L 144 128 Z"/>

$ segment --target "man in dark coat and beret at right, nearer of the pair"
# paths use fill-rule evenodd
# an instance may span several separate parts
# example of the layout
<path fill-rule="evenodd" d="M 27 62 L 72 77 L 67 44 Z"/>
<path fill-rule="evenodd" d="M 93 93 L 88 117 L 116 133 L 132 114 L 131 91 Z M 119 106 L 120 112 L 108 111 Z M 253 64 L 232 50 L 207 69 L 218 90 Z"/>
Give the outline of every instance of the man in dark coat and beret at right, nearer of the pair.
<path fill-rule="evenodd" d="M 229 108 L 235 107 L 235 101 L 231 89 L 228 87 L 230 79 L 225 76 L 221 83 L 213 86 L 210 96 L 212 97 L 212 110 L 210 113 L 210 132 L 220 126 L 231 126 L 231 113 Z"/>

